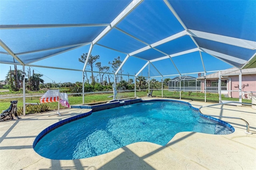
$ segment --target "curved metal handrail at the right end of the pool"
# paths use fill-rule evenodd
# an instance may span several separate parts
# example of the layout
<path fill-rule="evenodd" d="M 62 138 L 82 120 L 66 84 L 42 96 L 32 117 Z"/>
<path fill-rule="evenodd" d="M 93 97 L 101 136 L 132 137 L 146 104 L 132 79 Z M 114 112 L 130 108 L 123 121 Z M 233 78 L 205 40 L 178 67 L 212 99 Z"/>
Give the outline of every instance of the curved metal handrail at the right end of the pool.
<path fill-rule="evenodd" d="M 204 113 L 202 113 L 201 111 L 200 111 L 200 109 L 202 108 L 202 107 L 211 107 L 211 106 L 218 106 L 218 105 L 225 105 L 225 104 L 240 104 L 240 105 L 242 105 L 242 104 L 244 104 L 244 105 L 254 105 L 254 104 L 250 104 L 250 103 L 241 103 L 241 102 L 225 102 L 225 103 L 218 103 L 218 104 L 212 104 L 212 105 L 207 105 L 207 106 L 201 106 L 201 107 L 199 107 L 199 112 L 201 113 L 201 114 L 203 114 L 203 115 L 206 115 L 206 114 L 204 114 Z M 244 120 L 244 119 L 242 119 L 242 118 L 239 118 L 239 117 L 227 117 L 227 116 L 218 116 L 218 115 L 206 115 L 206 116 L 212 116 L 212 117 L 223 117 L 223 118 L 228 118 L 228 119 L 240 119 L 240 120 L 242 120 L 242 121 L 244 121 L 245 123 L 246 123 L 246 132 L 244 132 L 244 133 L 247 133 L 247 134 L 251 134 L 252 135 L 252 133 L 250 133 L 250 126 L 249 126 L 249 123 L 246 121 L 246 120 Z"/>

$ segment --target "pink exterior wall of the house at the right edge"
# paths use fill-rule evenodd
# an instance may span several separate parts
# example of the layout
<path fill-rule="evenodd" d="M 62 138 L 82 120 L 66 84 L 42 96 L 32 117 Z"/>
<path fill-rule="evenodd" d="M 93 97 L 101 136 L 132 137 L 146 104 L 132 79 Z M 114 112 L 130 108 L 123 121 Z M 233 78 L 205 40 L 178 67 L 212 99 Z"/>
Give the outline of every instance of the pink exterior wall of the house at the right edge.
<path fill-rule="evenodd" d="M 239 89 L 239 77 L 229 76 L 231 78 L 231 90 Z M 245 97 L 249 97 L 248 93 L 256 94 L 256 74 L 242 75 L 242 92 Z M 231 92 L 232 98 L 239 98 L 239 92 Z"/>

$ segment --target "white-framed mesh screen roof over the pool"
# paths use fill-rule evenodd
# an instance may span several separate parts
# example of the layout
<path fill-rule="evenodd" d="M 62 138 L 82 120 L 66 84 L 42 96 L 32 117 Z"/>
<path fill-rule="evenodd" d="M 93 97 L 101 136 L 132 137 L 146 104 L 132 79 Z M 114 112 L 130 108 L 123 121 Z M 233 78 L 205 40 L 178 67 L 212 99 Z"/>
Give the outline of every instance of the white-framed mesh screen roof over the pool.
<path fill-rule="evenodd" d="M 186 64 L 206 72 L 214 58 L 254 67 L 255 9 L 252 0 L 1 0 L 0 63 L 29 66 L 100 46 L 125 54 L 121 66 L 132 57 L 145 61 L 138 73 L 148 64 L 160 75 L 166 68 L 182 74 Z"/>

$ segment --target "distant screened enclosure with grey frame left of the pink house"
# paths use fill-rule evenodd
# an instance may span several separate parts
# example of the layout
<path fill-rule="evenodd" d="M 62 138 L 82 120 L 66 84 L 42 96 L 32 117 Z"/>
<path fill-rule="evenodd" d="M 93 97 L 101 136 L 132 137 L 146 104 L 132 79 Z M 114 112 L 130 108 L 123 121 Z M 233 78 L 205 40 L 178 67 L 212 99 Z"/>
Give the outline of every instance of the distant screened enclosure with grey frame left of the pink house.
<path fill-rule="evenodd" d="M 201 91 L 201 81 L 191 76 L 177 76 L 169 80 L 168 86 L 170 90 Z"/>

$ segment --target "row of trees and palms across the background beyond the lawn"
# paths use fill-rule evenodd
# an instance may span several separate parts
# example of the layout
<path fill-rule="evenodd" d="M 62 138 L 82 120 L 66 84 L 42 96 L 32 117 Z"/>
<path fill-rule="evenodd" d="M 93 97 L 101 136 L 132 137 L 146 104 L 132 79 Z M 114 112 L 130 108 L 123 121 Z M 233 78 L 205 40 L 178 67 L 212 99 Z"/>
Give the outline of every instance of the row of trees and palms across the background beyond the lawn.
<path fill-rule="evenodd" d="M 82 54 L 78 61 L 85 63 L 88 57 L 88 53 Z M 92 56 L 90 55 L 88 59 L 87 65 L 89 66 L 89 70 L 91 72 L 91 76 L 88 76 L 88 72 L 85 73 L 84 78 L 84 91 L 85 92 L 94 92 L 94 91 L 108 91 L 112 90 L 112 84 L 114 83 L 113 74 L 110 74 L 110 66 L 112 67 L 112 72 L 115 73 L 116 70 L 122 64 L 120 61 L 120 57 L 115 58 L 112 62 L 108 62 L 110 66 L 102 66 L 101 62 L 96 62 L 100 59 L 99 55 Z M 95 64 L 94 64 L 95 63 Z M 98 68 L 98 74 L 95 74 L 94 66 Z M 134 79 L 129 77 L 128 80 L 124 80 L 122 76 L 122 68 L 119 70 L 119 74 L 116 75 L 116 87 L 117 90 L 134 90 L 135 84 Z M 68 88 L 71 93 L 81 93 L 82 92 L 82 82 L 76 83 L 44 83 L 44 80 L 41 78 L 43 74 L 34 73 L 34 70 L 26 70 L 26 89 L 28 90 L 39 90 L 40 88 Z M 18 70 L 17 66 L 14 65 L 14 70 L 11 69 L 8 71 L 6 75 L 6 79 L 4 80 L 5 85 L 3 88 L 10 89 L 12 91 L 22 90 L 22 70 Z M 164 79 L 164 88 L 168 88 L 168 81 L 170 78 Z M 148 80 L 143 76 L 138 76 L 136 78 L 136 89 L 147 89 L 148 88 Z M 152 89 L 161 89 L 162 83 L 157 81 L 156 79 L 150 80 L 150 88 Z"/>

